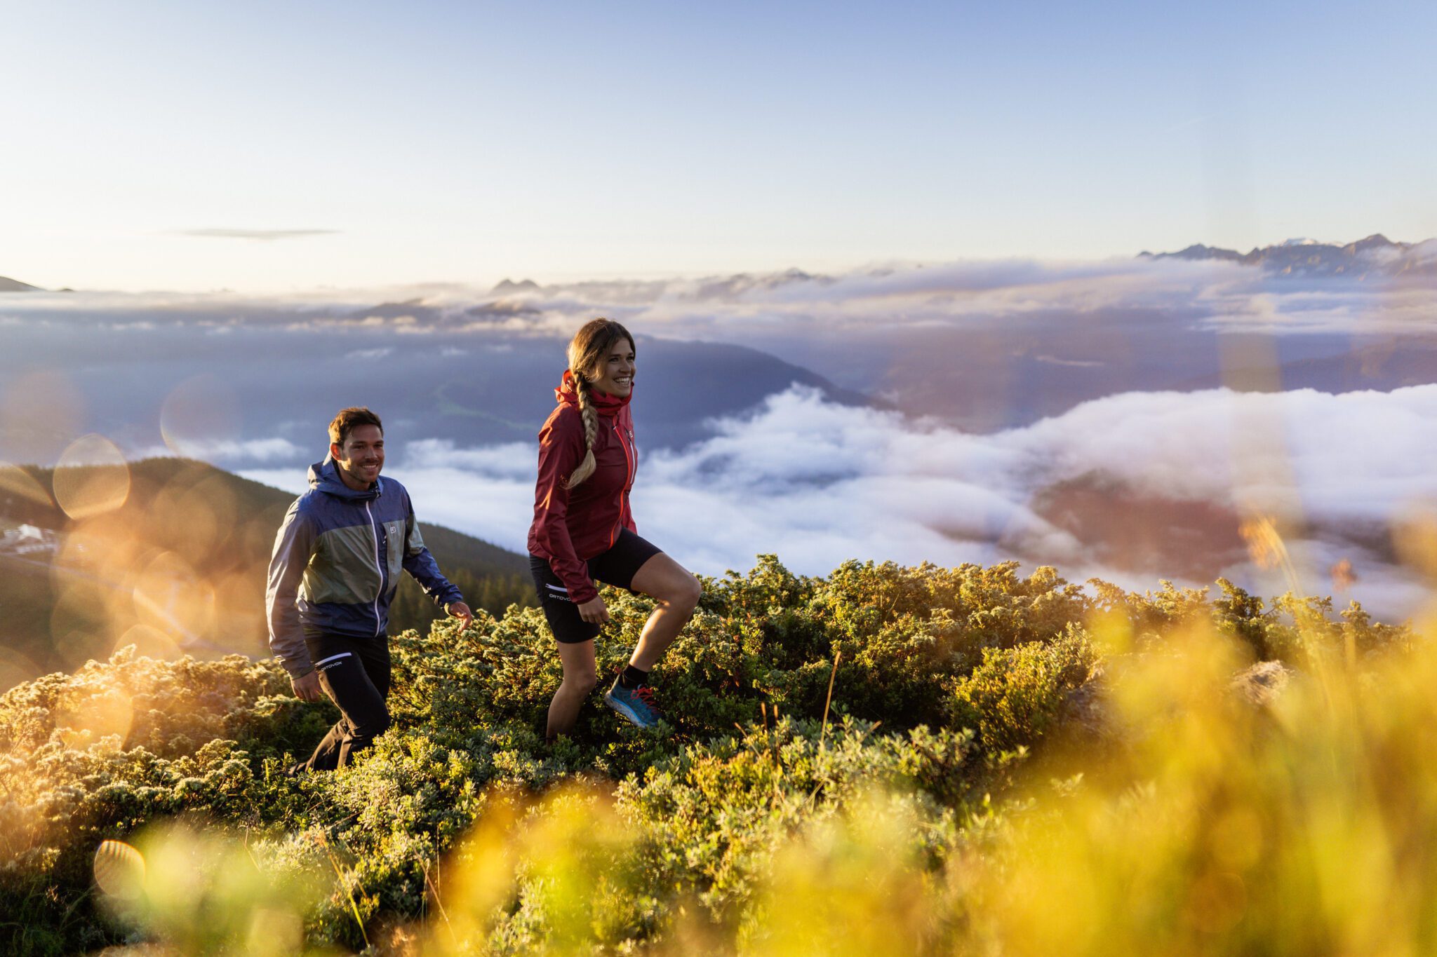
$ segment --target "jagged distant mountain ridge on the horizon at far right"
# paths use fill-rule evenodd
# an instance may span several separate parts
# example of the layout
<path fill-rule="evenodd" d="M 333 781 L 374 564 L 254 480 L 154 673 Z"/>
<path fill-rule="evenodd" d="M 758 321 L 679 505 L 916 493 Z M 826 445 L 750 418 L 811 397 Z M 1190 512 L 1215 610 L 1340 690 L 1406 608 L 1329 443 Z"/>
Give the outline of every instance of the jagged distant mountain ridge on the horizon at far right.
<path fill-rule="evenodd" d="M 1277 245 L 1253 247 L 1249 253 L 1196 242 L 1177 253 L 1140 253 L 1148 260 L 1224 260 L 1257 265 L 1277 275 L 1401 275 L 1437 274 L 1437 240 L 1394 242 L 1381 232 L 1338 245 L 1316 240 L 1288 240 Z"/>

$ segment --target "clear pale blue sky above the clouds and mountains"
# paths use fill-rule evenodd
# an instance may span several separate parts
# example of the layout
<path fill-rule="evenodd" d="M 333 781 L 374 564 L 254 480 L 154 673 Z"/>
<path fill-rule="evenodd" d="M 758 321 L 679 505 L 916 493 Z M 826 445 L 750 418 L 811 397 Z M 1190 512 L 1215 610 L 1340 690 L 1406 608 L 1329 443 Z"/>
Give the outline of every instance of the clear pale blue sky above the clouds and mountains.
<path fill-rule="evenodd" d="M 1437 234 L 1437 4 L 26 3 L 0 275 L 234 288 Z M 197 231 L 316 230 L 260 241 Z"/>

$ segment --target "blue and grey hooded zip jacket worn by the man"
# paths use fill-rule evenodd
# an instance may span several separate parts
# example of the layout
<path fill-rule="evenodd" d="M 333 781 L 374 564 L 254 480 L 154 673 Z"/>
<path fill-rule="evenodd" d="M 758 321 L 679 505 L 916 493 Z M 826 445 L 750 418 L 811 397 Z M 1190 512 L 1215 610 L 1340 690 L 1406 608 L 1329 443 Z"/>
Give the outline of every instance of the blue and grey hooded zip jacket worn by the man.
<path fill-rule="evenodd" d="M 264 593 L 270 650 L 299 677 L 312 670 L 306 630 L 385 634 L 401 570 L 440 607 L 463 601 L 424 547 L 402 485 L 381 476 L 355 491 L 333 459 L 310 465 L 309 491 L 289 506 L 274 538 Z"/>

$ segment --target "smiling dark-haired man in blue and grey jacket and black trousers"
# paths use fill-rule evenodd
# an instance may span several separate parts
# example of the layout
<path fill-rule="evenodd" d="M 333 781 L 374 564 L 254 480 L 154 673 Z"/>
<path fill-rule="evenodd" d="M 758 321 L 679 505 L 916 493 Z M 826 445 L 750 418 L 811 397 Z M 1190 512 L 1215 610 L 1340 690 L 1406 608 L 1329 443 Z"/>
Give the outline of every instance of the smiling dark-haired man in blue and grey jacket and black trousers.
<path fill-rule="evenodd" d="M 323 690 L 341 719 L 296 770 L 332 770 L 389 727 L 389 603 L 407 571 L 448 614 L 473 614 L 420 538 L 410 494 L 381 479 L 384 425 L 368 409 L 343 409 L 329 423 L 329 455 L 309 466 L 309 491 L 295 499 L 274 538 L 269 588 L 270 650 L 295 694 Z"/>

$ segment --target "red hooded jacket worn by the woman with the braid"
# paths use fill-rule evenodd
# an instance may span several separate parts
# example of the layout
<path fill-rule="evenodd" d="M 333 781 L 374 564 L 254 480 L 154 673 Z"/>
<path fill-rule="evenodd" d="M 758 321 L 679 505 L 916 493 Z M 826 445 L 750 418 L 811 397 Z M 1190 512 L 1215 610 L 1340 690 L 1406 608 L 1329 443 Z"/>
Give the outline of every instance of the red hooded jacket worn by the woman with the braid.
<path fill-rule="evenodd" d="M 535 485 L 535 522 L 529 527 L 529 554 L 549 561 L 575 604 L 599 593 L 585 564 L 618 541 L 619 529 L 634 528 L 628 494 L 638 469 L 634 418 L 629 396 L 614 397 L 591 392 L 599 413 L 593 438 L 595 469 L 585 482 L 568 488 L 573 469 L 583 461 L 583 413 L 569 372 L 553 390 L 558 407 L 539 429 L 539 481 Z"/>

